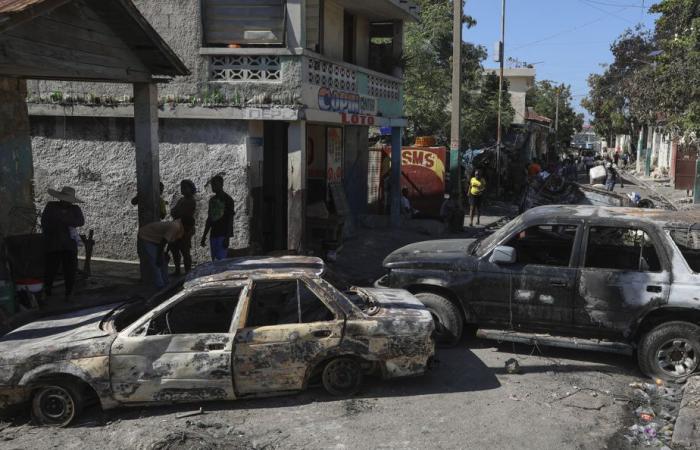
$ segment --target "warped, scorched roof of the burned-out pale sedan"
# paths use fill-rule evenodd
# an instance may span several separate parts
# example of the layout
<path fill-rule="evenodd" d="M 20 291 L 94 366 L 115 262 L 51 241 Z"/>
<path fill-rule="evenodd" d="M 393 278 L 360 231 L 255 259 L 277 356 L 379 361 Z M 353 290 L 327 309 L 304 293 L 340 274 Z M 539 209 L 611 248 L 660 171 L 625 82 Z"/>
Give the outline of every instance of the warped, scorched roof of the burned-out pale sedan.
<path fill-rule="evenodd" d="M 185 287 L 256 275 L 300 274 L 321 276 L 326 266 L 312 256 L 250 256 L 200 264 L 185 279 Z"/>

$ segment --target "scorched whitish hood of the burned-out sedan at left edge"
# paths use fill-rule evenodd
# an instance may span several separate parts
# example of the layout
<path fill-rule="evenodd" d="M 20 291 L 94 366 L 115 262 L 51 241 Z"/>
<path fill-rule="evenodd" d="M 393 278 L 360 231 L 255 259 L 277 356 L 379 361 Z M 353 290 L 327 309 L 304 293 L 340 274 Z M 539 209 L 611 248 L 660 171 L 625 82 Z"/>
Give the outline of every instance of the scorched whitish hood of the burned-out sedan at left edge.
<path fill-rule="evenodd" d="M 73 311 L 17 328 L 0 339 L 0 365 L 40 355 L 57 360 L 107 355 L 116 335 L 100 329 L 100 323 L 117 306 Z"/>

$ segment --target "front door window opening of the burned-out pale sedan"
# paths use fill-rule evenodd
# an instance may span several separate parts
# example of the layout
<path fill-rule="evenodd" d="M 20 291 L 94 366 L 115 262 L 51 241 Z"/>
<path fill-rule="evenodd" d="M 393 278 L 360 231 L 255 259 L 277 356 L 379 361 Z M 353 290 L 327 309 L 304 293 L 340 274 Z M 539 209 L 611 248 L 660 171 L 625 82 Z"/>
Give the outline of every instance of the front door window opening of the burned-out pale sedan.
<path fill-rule="evenodd" d="M 242 288 L 194 292 L 151 320 L 147 335 L 228 333 Z"/>

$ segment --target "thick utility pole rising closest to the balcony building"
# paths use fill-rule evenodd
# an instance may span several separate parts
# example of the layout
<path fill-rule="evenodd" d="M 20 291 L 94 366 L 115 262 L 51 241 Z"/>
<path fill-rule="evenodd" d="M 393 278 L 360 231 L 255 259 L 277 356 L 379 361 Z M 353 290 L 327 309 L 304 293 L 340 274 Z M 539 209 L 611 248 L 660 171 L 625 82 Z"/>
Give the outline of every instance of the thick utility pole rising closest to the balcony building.
<path fill-rule="evenodd" d="M 457 195 L 462 204 L 462 170 L 459 160 L 460 112 L 462 87 L 462 0 L 452 0 L 452 120 L 450 123 L 450 196 Z"/>

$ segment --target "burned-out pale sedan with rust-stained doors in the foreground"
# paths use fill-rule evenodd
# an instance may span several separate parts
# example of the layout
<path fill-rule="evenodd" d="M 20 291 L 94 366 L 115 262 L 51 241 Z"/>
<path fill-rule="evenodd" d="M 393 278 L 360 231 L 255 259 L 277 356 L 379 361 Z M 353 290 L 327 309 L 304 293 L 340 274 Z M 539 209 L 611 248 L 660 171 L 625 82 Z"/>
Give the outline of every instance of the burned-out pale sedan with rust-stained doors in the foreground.
<path fill-rule="evenodd" d="M 420 375 L 434 354 L 430 313 L 404 290 L 323 280 L 317 258 L 243 258 L 196 268 L 148 301 L 23 326 L 0 340 L 0 403 L 65 426 L 103 409 L 300 391 L 319 379 L 350 395 L 363 375 Z"/>

